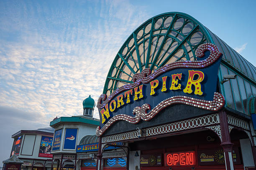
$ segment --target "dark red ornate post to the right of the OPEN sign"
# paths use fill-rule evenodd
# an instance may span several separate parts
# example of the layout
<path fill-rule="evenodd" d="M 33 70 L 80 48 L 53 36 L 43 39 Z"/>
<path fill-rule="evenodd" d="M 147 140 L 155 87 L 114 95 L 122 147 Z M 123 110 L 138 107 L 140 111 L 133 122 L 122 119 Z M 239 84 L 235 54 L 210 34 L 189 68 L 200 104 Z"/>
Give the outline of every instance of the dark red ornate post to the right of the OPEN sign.
<path fill-rule="evenodd" d="M 230 133 L 228 130 L 228 119 L 227 119 L 226 112 L 224 110 L 220 111 L 219 117 L 220 117 L 220 131 L 221 131 L 221 137 L 222 137 L 222 142 L 220 145 L 222 146 L 224 151 L 226 170 L 234 170 L 233 158 L 232 158 L 233 143 L 231 143 L 231 140 L 230 140 Z"/>

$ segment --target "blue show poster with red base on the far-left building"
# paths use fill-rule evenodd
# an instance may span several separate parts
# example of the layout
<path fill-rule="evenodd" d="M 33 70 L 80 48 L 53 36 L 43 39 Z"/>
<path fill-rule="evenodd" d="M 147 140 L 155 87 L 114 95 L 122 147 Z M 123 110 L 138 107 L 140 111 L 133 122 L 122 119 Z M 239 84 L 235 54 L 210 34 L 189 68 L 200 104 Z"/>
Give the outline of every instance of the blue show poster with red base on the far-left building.
<path fill-rule="evenodd" d="M 42 136 L 38 157 L 52 158 L 51 146 L 52 137 Z"/>

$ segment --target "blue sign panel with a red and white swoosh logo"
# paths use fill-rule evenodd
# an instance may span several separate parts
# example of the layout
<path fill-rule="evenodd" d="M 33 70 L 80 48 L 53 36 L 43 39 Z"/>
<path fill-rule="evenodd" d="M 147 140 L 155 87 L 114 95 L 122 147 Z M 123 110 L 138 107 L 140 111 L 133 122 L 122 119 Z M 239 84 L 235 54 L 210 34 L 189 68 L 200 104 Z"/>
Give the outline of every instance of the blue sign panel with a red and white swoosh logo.
<path fill-rule="evenodd" d="M 77 129 L 66 129 L 63 149 L 75 149 L 77 141 Z"/>

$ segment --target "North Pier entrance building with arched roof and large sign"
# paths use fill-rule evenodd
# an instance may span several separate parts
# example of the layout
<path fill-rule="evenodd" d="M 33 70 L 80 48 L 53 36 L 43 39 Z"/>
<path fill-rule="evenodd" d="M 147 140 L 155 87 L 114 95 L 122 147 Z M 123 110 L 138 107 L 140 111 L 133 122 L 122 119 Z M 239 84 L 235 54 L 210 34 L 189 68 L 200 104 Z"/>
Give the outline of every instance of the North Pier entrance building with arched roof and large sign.
<path fill-rule="evenodd" d="M 195 18 L 150 18 L 98 99 L 97 170 L 255 169 L 255 80 L 256 67 Z"/>

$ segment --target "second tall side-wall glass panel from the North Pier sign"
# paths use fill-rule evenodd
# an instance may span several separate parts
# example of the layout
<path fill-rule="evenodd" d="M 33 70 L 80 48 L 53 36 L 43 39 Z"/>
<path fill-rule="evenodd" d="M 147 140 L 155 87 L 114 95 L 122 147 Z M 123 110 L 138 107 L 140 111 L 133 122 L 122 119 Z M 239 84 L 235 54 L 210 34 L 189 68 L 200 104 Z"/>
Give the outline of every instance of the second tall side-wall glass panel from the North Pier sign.
<path fill-rule="evenodd" d="M 229 70 L 230 75 L 235 75 L 235 73 L 231 70 Z M 233 87 L 233 95 L 235 97 L 235 101 L 236 101 L 236 110 L 243 112 L 243 106 L 242 106 L 242 102 L 241 102 L 241 96 L 240 96 L 240 90 L 238 87 L 238 83 L 236 79 L 231 79 L 231 84 Z"/>

